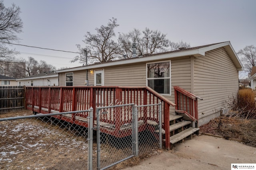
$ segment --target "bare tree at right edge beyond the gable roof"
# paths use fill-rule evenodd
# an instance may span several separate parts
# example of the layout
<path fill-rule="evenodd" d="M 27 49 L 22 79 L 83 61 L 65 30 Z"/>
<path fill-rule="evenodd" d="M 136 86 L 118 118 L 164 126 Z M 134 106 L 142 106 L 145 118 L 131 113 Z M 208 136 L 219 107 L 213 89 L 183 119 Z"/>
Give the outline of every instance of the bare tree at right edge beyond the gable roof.
<path fill-rule="evenodd" d="M 248 45 L 238 51 L 242 64 L 244 65 L 244 71 L 252 72 L 252 67 L 256 66 L 256 47 L 254 45 Z"/>

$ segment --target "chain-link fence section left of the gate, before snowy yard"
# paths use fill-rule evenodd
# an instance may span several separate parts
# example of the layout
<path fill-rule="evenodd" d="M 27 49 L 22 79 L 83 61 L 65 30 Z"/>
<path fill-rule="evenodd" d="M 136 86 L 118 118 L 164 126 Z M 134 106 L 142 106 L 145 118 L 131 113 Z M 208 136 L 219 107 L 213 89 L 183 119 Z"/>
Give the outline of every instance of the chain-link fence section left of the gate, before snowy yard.
<path fill-rule="evenodd" d="M 88 128 L 72 123 L 86 112 L 0 119 L 0 169 L 87 169 Z"/>

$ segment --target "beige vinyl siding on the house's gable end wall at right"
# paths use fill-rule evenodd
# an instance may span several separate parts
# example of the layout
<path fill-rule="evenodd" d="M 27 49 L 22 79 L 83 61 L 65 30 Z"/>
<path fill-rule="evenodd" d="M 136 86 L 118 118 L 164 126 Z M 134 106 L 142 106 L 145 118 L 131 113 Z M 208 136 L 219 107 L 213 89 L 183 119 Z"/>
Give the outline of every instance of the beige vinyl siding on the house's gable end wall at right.
<path fill-rule="evenodd" d="M 194 94 L 203 98 L 198 101 L 199 125 L 218 116 L 237 92 L 238 70 L 223 47 L 194 59 Z"/>

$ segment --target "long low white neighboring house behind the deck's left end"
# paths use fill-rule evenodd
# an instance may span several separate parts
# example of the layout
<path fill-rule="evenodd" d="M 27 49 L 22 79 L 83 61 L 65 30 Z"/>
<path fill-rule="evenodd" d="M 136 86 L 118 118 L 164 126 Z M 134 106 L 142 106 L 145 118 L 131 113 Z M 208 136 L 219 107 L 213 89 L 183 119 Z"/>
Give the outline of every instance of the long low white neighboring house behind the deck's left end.
<path fill-rule="evenodd" d="M 33 76 L 16 79 L 18 86 L 58 86 L 58 73 L 43 72 Z"/>

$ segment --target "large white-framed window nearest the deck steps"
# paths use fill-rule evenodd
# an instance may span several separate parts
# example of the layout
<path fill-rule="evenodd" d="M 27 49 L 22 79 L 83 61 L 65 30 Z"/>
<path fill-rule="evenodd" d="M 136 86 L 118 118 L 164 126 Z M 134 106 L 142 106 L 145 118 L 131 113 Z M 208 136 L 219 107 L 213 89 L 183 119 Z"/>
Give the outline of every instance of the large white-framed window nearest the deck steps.
<path fill-rule="evenodd" d="M 170 94 L 170 61 L 147 64 L 147 86 L 161 94 Z"/>

